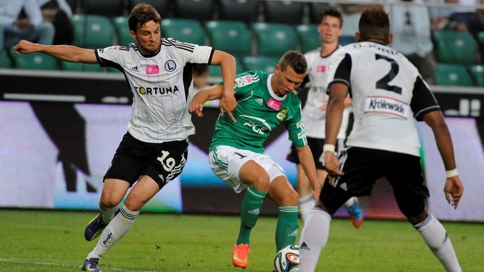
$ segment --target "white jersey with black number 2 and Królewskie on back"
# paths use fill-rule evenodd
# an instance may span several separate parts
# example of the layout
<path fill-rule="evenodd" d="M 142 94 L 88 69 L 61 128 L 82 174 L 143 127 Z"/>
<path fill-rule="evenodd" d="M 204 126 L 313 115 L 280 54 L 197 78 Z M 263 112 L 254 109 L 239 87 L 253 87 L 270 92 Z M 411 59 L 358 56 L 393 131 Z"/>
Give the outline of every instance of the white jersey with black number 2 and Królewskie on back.
<path fill-rule="evenodd" d="M 394 49 L 373 42 L 333 53 L 328 83 L 348 85 L 355 121 L 347 145 L 420 156 L 414 117 L 440 110 L 417 68 Z"/>

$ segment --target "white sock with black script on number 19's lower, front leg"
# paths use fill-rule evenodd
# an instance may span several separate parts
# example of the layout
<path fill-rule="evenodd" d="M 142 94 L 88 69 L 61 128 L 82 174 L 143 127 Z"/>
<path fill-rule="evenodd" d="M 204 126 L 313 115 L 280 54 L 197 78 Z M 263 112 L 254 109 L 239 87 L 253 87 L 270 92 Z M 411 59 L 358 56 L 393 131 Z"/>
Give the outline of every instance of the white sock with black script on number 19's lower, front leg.
<path fill-rule="evenodd" d="M 87 259 L 101 258 L 108 252 L 117 241 L 121 240 L 127 234 L 131 226 L 133 226 L 138 213 L 139 211 L 130 211 L 123 205 L 121 211 L 106 226 L 103 234 L 99 237 L 96 247 L 88 254 Z"/>

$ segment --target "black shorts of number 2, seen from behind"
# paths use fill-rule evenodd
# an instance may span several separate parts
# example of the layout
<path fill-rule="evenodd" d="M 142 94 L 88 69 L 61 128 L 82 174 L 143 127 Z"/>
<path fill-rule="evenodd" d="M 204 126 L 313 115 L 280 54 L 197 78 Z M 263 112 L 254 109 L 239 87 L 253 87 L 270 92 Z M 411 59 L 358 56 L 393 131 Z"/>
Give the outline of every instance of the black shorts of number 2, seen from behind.
<path fill-rule="evenodd" d="M 430 196 L 425 186 L 420 158 L 409 154 L 378 149 L 349 147 L 339 156 L 345 172 L 335 186 L 325 180 L 319 199 L 335 212 L 350 197 L 370 196 L 373 184 L 385 177 L 405 216 L 417 216 L 425 209 Z"/>

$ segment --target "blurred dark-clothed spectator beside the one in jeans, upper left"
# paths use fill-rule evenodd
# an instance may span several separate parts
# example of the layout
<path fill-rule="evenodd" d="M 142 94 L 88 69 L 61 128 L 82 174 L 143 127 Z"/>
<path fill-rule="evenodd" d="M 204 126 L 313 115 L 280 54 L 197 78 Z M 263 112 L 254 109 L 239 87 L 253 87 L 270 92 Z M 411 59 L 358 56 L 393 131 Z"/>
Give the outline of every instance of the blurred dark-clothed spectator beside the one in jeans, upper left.
<path fill-rule="evenodd" d="M 72 10 L 66 0 L 37 0 L 44 21 L 54 25 L 53 44 L 72 44 L 73 30 L 70 21 Z"/>

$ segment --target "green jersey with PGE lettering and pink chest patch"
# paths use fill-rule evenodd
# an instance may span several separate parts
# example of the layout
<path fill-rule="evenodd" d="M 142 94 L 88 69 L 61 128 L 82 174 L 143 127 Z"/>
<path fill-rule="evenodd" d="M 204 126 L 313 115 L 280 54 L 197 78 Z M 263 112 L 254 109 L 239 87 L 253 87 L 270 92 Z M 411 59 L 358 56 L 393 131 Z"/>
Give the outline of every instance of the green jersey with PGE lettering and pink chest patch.
<path fill-rule="evenodd" d="M 237 122 L 230 120 L 228 114 L 218 117 L 210 150 L 228 145 L 264 153 L 264 141 L 281 122 L 289 131 L 289 140 L 298 147 L 307 145 L 301 123 L 301 101 L 293 92 L 277 96 L 271 88 L 271 78 L 272 74 L 263 71 L 247 71 L 236 76 L 237 108 L 232 114 Z"/>

